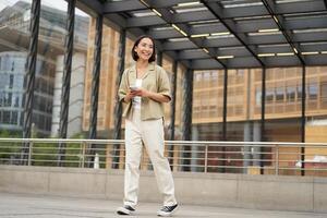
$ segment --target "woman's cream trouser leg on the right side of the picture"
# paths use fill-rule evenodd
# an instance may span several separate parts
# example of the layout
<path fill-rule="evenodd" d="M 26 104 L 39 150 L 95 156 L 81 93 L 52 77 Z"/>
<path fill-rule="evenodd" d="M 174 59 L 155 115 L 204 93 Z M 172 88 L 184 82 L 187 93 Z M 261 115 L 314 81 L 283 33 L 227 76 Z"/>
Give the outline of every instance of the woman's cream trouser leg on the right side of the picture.
<path fill-rule="evenodd" d="M 174 205 L 177 201 L 174 197 L 173 179 L 168 159 L 164 156 L 165 138 L 162 120 L 143 121 L 142 136 L 154 166 L 158 189 L 164 195 L 164 205 Z"/>

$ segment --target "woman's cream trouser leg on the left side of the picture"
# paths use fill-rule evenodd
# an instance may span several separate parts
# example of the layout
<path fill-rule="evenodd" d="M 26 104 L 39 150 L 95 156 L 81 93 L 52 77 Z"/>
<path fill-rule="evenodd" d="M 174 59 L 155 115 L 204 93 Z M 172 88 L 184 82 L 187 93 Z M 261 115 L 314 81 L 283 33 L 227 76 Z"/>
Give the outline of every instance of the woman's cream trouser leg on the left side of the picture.
<path fill-rule="evenodd" d="M 135 207 L 138 195 L 140 161 L 142 140 L 138 123 L 125 122 L 125 175 L 124 175 L 124 205 Z"/>

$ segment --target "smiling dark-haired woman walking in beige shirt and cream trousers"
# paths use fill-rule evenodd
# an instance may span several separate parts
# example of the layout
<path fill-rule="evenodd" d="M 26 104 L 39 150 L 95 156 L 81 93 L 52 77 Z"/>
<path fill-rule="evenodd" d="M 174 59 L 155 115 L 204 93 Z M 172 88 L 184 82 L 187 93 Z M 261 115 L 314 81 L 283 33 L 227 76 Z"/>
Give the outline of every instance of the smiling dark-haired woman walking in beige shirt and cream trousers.
<path fill-rule="evenodd" d="M 126 155 L 123 206 L 117 213 L 131 215 L 135 211 L 144 143 L 164 196 L 164 206 L 157 215 L 170 216 L 178 204 L 170 166 L 164 156 L 164 102 L 171 100 L 169 78 L 166 71 L 155 64 L 156 49 L 152 37 L 138 37 L 132 57 L 136 64 L 124 71 L 119 87 L 119 98 L 126 104 L 123 112 Z"/>

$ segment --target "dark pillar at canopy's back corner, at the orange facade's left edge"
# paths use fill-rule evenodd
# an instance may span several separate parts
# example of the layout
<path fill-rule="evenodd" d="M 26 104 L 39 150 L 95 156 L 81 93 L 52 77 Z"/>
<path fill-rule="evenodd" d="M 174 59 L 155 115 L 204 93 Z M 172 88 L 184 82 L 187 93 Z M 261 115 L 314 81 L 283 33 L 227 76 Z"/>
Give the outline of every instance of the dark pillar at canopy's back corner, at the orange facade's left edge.
<path fill-rule="evenodd" d="M 184 84 L 183 84 L 183 128 L 182 128 L 182 140 L 190 141 L 192 137 L 192 102 L 193 102 L 193 70 L 187 70 L 184 73 Z M 183 171 L 190 171 L 189 167 L 191 161 L 191 146 L 183 147 Z"/>

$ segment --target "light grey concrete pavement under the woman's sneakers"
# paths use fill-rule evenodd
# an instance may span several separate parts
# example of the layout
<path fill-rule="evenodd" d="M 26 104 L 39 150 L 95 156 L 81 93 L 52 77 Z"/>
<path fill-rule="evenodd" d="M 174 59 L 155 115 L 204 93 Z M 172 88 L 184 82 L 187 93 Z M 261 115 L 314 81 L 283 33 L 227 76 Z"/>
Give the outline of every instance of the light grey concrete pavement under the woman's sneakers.
<path fill-rule="evenodd" d="M 0 193 L 0 218 L 111 218 L 121 202 L 94 198 Z M 135 216 L 157 217 L 159 204 L 140 203 Z M 186 218 L 326 218 L 327 214 L 180 205 L 173 217 Z"/>

